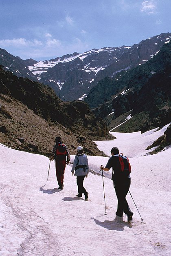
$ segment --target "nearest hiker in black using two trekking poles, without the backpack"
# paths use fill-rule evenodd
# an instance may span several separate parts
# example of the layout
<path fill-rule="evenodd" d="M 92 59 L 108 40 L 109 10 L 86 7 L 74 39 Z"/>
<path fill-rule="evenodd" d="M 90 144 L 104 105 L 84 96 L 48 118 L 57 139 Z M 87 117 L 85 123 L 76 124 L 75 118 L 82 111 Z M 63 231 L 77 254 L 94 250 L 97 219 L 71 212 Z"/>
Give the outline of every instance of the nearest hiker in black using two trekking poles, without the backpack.
<path fill-rule="evenodd" d="M 114 188 L 118 198 L 118 209 L 116 211 L 116 215 L 123 217 L 123 212 L 125 212 L 129 222 L 132 220 L 133 212 L 129 208 L 126 195 L 131 185 L 131 177 L 130 174 L 123 174 L 121 171 L 121 164 L 118 159 L 118 148 L 113 147 L 110 152 L 112 156 L 108 160 L 107 165 L 105 167 L 101 165 L 100 169 L 103 169 L 103 171 L 109 171 L 111 167 L 113 168 L 112 180 L 114 181 Z"/>

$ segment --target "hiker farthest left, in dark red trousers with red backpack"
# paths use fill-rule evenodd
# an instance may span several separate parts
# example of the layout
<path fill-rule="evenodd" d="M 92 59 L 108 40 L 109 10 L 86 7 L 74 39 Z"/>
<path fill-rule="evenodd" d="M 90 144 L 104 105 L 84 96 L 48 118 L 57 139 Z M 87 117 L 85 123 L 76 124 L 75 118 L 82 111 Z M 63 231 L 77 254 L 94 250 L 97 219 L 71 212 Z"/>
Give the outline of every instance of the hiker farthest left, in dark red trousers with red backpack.
<path fill-rule="evenodd" d="M 66 163 L 70 162 L 70 154 L 68 149 L 64 143 L 61 142 L 61 137 L 55 138 L 56 144 L 53 146 L 52 154 L 49 160 L 55 159 L 55 167 L 56 167 L 56 176 L 58 182 L 58 189 L 63 189 L 64 187 L 64 172 Z"/>

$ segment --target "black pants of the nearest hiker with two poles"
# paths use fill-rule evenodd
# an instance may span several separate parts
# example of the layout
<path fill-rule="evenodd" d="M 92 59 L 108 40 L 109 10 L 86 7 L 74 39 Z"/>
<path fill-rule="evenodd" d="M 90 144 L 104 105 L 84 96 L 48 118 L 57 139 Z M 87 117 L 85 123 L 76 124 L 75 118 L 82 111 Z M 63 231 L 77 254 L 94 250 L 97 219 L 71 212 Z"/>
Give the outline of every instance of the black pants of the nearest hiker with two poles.
<path fill-rule="evenodd" d="M 129 191 L 131 185 L 131 179 L 127 178 L 126 180 L 119 180 L 114 182 L 114 188 L 116 196 L 118 198 L 118 209 L 117 212 L 122 216 L 123 212 L 127 215 L 132 215 L 132 211 L 129 208 L 129 205 L 126 200 L 126 195 Z"/>

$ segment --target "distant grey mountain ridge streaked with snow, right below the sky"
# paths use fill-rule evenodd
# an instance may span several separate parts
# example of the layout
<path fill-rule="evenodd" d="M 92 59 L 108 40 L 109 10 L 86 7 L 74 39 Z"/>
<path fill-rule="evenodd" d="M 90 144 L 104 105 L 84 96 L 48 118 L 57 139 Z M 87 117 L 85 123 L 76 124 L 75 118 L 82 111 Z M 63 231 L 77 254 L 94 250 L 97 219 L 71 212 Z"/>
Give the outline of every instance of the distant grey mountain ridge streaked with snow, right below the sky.
<path fill-rule="evenodd" d="M 155 56 L 170 38 L 171 33 L 162 33 L 133 46 L 92 49 L 39 62 L 16 58 L 30 69 L 34 78 L 52 87 L 62 100 L 83 100 L 101 79 L 107 76 L 114 78 L 121 71 L 142 65 Z M 7 68 L 9 66 L 6 65 Z"/>

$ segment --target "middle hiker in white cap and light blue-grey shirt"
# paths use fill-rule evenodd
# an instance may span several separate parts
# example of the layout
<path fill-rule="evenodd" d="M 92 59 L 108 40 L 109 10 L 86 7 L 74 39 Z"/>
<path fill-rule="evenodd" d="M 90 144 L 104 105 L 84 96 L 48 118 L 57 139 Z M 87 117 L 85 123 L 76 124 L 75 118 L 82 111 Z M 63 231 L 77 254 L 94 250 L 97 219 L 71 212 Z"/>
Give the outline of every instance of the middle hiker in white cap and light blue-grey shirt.
<path fill-rule="evenodd" d="M 75 174 L 74 174 L 75 170 Z M 77 155 L 75 156 L 74 163 L 72 165 L 72 175 L 77 176 L 78 197 L 85 195 L 85 200 L 88 200 L 88 192 L 83 187 L 84 178 L 88 176 L 88 158 L 84 154 L 83 147 L 77 147 Z"/>

